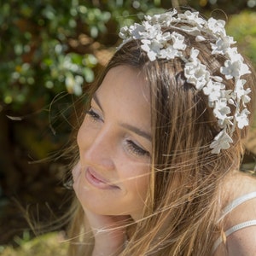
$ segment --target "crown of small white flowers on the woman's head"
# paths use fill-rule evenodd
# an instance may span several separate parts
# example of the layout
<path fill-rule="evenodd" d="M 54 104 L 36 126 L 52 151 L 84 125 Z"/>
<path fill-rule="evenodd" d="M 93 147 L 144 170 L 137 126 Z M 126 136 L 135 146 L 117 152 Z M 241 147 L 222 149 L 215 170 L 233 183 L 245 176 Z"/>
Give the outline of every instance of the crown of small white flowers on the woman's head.
<path fill-rule="evenodd" d="M 177 26 L 177 24 L 180 24 Z M 231 48 L 231 44 L 236 44 L 232 37 L 226 35 L 224 20 L 210 18 L 204 20 L 198 12 L 189 10 L 183 14 L 178 14 L 176 9 L 162 15 L 145 16 L 142 24 L 135 23 L 132 26 L 122 27 L 119 37 L 123 39 L 120 44 L 131 40 L 140 40 L 141 48 L 147 53 L 150 61 L 156 59 L 172 60 L 180 58 L 184 64 L 184 76 L 187 82 L 193 84 L 196 90 L 202 90 L 208 97 L 208 104 L 213 108 L 213 115 L 218 120 L 220 131 L 214 137 L 210 145 L 212 154 L 218 154 L 221 149 L 230 148 L 233 143 L 231 138 L 236 127 L 242 129 L 248 125 L 248 114 L 246 103 L 250 102 L 250 89 L 244 90 L 245 79 L 241 76 L 250 73 L 249 68 L 244 63 L 242 56 L 237 52 L 237 48 Z M 174 28 L 174 32 L 163 32 L 162 28 Z M 223 79 L 219 76 L 212 76 L 207 67 L 198 59 L 199 50 L 192 48 L 189 58 L 185 57 L 184 50 L 187 45 L 184 43 L 184 36 L 177 31 L 186 32 L 195 36 L 197 42 L 207 39 L 204 35 L 211 35 L 215 43 L 211 43 L 212 55 L 224 55 L 224 67 L 220 67 L 220 73 L 225 79 L 234 79 L 235 89 L 225 90 Z M 234 115 L 230 106 L 234 106 Z"/>

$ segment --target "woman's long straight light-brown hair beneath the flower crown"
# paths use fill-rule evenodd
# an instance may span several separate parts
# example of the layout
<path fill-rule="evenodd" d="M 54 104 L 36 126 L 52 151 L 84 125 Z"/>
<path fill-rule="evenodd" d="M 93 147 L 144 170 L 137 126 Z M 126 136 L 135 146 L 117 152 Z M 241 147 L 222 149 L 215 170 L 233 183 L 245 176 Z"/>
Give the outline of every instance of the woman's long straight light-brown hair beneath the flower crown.
<path fill-rule="evenodd" d="M 224 78 L 219 73 L 224 57 L 211 55 L 211 38 L 208 43 L 200 43 L 188 34 L 184 36 L 188 51 L 192 47 L 199 49 L 201 63 L 211 75 Z M 247 128 L 234 132 L 230 148 L 212 154 L 209 144 L 218 133 L 217 121 L 206 96 L 184 78 L 183 61 L 149 61 L 136 40 L 113 55 L 96 86 L 90 88 L 90 96 L 108 71 L 119 65 L 143 73 L 151 91 L 153 131 L 152 175 L 144 217 L 133 224 L 120 255 L 211 255 L 214 239 L 223 230 L 222 224 L 217 224 L 223 207 L 219 189 L 224 177 L 239 169 Z M 244 79 L 255 90 L 254 74 Z M 225 85 L 234 87 L 231 80 Z M 254 91 L 250 96 L 248 110 L 252 112 Z M 84 212 L 77 199 L 72 211 L 69 255 L 90 255 L 93 236 L 84 224 Z"/>

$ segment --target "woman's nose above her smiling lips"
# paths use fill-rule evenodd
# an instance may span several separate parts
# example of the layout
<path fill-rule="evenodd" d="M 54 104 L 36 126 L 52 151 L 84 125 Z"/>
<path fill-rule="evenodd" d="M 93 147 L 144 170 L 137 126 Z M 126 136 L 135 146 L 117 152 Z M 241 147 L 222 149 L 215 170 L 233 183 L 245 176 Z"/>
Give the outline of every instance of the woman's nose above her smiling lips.
<path fill-rule="evenodd" d="M 105 171 L 113 170 L 115 146 L 110 128 L 102 127 L 100 131 L 87 131 L 84 134 L 79 130 L 78 143 L 84 165 Z"/>

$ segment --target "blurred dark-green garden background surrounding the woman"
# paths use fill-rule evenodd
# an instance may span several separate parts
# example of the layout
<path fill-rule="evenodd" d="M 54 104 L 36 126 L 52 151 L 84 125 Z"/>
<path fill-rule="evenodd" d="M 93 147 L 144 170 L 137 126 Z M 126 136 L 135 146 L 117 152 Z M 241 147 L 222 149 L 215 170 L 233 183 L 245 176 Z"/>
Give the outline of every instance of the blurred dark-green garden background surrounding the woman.
<path fill-rule="evenodd" d="M 256 0 L 0 1 L 0 254 L 65 255 L 65 222 L 55 232 L 47 224 L 70 205 L 63 152 L 79 125 L 74 102 L 113 54 L 120 26 L 179 6 L 226 20 L 256 67 Z M 255 127 L 247 172 L 256 169 Z"/>

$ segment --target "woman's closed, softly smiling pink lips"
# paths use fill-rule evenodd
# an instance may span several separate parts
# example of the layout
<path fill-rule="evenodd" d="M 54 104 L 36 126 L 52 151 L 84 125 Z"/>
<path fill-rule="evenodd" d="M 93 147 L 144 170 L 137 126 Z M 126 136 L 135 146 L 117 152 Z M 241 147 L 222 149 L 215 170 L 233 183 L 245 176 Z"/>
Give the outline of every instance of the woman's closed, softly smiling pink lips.
<path fill-rule="evenodd" d="M 85 177 L 91 185 L 98 189 L 120 189 L 117 185 L 109 183 L 108 180 L 94 172 L 90 167 L 86 169 Z"/>

